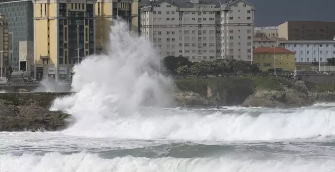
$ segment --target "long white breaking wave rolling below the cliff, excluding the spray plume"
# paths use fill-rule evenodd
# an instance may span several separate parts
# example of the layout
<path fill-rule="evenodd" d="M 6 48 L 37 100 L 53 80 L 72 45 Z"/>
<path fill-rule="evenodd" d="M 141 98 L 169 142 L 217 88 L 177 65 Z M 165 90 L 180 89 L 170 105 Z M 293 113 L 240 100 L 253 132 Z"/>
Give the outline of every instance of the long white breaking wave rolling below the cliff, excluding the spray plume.
<path fill-rule="evenodd" d="M 92 115 L 62 132 L 64 135 L 117 139 L 254 141 L 335 136 L 335 113 L 307 109 L 291 113 L 222 114 L 220 111 L 150 110 L 126 117 Z"/>

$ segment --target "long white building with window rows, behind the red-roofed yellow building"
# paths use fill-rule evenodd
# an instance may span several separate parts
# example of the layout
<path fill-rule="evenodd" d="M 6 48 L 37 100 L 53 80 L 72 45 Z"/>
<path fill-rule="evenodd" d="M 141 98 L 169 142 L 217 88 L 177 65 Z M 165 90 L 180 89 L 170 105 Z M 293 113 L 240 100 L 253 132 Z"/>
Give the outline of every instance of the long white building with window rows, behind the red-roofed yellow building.
<path fill-rule="evenodd" d="M 279 46 L 295 52 L 296 63 L 327 62 L 335 57 L 335 40 L 286 40 Z"/>

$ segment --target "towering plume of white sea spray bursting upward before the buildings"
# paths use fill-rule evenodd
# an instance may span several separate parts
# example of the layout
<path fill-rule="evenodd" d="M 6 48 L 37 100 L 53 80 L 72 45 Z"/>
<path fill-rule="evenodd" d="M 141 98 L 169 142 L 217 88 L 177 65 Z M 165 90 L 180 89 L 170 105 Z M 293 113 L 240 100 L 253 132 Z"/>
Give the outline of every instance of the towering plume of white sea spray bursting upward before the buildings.
<path fill-rule="evenodd" d="M 132 36 L 126 23 L 111 28 L 107 55 L 86 57 L 74 67 L 75 95 L 54 101 L 53 110 L 73 114 L 74 125 L 107 126 L 106 121 L 137 116 L 140 106 L 166 107 L 173 87 L 158 71 L 159 57 L 145 37 Z"/>

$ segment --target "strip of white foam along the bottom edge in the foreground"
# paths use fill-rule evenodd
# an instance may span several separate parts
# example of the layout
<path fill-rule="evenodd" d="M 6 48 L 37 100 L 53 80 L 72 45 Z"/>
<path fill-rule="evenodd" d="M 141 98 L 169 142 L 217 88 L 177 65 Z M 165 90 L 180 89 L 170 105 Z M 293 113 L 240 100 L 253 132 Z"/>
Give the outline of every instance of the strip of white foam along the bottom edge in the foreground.
<path fill-rule="evenodd" d="M 96 154 L 78 153 L 61 155 L 48 153 L 43 156 L 23 154 L 22 156 L 0 155 L 0 171 L 10 172 L 74 172 L 74 171 L 117 171 L 117 172 L 332 172 L 335 161 L 313 159 L 250 160 L 248 158 L 135 158 L 118 157 L 104 159 Z"/>

